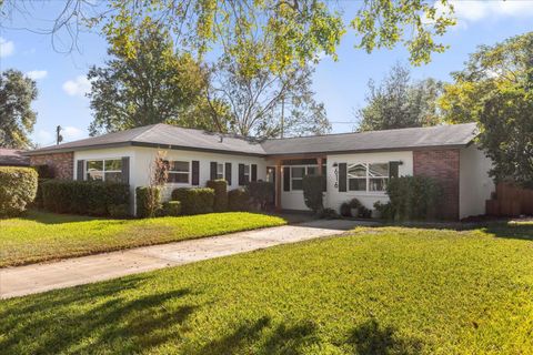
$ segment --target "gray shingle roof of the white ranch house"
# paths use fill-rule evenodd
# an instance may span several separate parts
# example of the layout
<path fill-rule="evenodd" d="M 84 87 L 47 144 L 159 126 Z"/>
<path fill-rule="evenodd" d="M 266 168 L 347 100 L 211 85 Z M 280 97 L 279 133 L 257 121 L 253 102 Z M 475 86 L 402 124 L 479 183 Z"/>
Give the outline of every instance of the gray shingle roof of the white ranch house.
<path fill-rule="evenodd" d="M 231 134 L 221 135 L 160 123 L 42 148 L 28 152 L 27 154 L 44 154 L 57 151 L 76 151 L 121 145 L 217 151 L 245 155 L 344 153 L 409 150 L 430 146 L 459 148 L 469 144 L 475 134 L 475 123 L 465 123 L 431 128 L 272 139 L 258 142 Z"/>

